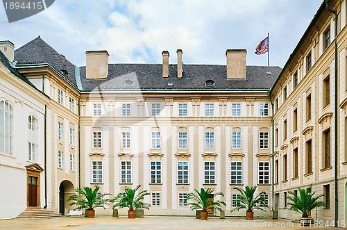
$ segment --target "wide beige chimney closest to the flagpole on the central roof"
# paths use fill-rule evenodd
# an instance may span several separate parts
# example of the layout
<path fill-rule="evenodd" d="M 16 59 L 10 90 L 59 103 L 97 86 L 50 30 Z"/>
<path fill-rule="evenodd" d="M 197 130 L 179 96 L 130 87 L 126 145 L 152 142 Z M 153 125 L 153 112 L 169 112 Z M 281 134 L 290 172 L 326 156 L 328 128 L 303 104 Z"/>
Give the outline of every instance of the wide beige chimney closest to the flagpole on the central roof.
<path fill-rule="evenodd" d="M 246 79 L 246 49 L 226 50 L 227 79 Z"/>

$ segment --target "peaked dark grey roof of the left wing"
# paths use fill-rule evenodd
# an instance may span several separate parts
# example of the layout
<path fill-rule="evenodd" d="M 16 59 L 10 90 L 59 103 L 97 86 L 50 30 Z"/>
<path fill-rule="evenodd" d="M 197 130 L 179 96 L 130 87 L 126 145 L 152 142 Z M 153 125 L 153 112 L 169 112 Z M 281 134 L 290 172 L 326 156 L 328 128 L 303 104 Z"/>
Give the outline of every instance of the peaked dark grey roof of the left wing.
<path fill-rule="evenodd" d="M 42 40 L 40 36 L 16 49 L 15 60 L 17 60 L 17 65 L 49 64 L 60 73 L 65 68 L 67 70 L 66 79 L 76 85 L 76 66 Z"/>

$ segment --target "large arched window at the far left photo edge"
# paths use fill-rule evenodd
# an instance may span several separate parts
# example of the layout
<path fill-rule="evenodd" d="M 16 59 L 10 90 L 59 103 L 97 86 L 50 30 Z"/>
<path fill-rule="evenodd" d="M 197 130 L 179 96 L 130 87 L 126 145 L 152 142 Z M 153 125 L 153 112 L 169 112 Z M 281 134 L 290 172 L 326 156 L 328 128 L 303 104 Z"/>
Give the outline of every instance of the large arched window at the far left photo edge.
<path fill-rule="evenodd" d="M 8 101 L 0 101 L 0 153 L 12 155 L 13 109 Z"/>

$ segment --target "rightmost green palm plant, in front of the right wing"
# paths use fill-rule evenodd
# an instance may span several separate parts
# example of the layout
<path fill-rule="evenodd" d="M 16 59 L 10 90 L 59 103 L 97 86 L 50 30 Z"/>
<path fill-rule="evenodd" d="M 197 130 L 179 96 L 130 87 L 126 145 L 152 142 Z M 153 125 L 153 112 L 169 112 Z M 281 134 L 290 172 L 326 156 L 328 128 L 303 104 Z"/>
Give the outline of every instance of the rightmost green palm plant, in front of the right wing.
<path fill-rule="evenodd" d="M 321 206 L 326 206 L 324 202 L 319 201 L 324 195 L 316 195 L 316 192 L 312 192 L 312 186 L 308 188 L 298 188 L 298 194 L 294 191 L 288 191 L 289 195 L 287 199 L 290 202 L 287 202 L 289 210 L 296 211 L 302 214 L 302 217 L 308 217 L 308 213 L 314 208 L 319 208 Z"/>

